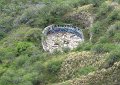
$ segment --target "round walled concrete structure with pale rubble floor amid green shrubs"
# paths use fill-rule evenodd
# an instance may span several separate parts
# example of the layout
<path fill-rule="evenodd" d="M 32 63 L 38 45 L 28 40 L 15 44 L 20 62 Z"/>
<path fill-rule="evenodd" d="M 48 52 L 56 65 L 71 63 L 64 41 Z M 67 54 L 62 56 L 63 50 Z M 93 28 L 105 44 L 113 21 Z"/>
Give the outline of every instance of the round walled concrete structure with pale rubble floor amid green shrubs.
<path fill-rule="evenodd" d="M 73 25 L 50 25 L 43 30 L 42 46 L 50 53 L 65 48 L 72 50 L 83 41 L 82 30 Z"/>

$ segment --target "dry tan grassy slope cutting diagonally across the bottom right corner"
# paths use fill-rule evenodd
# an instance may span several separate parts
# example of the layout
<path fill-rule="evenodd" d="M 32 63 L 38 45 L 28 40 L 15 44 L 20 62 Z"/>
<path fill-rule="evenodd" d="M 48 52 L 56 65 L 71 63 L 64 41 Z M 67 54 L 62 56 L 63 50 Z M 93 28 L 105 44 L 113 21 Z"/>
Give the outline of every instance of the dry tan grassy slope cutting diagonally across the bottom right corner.
<path fill-rule="evenodd" d="M 89 73 L 60 84 L 53 85 L 119 85 L 120 84 L 120 62 L 115 63 L 111 68 Z"/>

